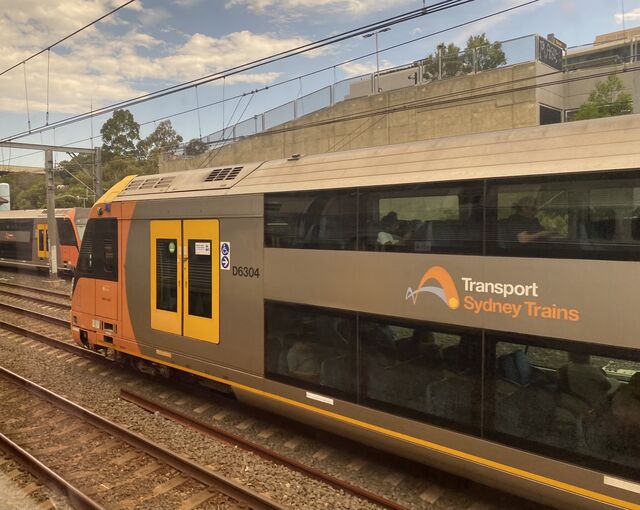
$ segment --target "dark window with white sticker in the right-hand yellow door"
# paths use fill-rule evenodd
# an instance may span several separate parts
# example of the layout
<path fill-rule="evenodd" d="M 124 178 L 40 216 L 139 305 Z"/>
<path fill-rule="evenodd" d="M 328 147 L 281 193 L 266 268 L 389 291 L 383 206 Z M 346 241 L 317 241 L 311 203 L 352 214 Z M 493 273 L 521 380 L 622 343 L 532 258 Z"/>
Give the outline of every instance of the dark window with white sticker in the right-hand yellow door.
<path fill-rule="evenodd" d="M 198 250 L 198 245 L 206 245 L 209 250 Z M 210 247 L 210 239 L 200 241 L 189 239 L 189 315 L 211 318 Z"/>

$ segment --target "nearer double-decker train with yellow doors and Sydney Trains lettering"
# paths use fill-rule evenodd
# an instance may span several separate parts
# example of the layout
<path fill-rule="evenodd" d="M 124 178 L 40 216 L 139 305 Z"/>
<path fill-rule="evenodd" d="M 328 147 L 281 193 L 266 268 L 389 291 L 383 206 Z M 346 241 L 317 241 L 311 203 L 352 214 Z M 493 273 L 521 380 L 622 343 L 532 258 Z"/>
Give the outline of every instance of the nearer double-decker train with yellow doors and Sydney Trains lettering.
<path fill-rule="evenodd" d="M 640 508 L 640 116 L 129 177 L 74 338 L 539 501 Z"/>

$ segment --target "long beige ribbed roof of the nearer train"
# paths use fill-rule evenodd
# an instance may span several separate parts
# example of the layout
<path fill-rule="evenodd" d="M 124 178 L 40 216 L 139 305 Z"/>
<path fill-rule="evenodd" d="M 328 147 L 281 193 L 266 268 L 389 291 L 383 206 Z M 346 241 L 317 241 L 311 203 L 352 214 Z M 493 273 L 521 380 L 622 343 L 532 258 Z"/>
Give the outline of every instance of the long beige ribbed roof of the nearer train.
<path fill-rule="evenodd" d="M 640 167 L 640 115 L 139 176 L 116 201 Z"/>

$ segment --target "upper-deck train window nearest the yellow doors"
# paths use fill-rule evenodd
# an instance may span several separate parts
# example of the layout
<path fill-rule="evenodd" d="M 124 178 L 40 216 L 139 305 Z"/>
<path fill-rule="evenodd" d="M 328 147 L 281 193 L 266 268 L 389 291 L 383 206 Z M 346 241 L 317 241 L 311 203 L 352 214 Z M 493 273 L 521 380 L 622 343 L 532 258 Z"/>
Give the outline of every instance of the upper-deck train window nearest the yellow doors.
<path fill-rule="evenodd" d="M 356 218 L 353 190 L 265 195 L 265 246 L 354 250 Z"/>

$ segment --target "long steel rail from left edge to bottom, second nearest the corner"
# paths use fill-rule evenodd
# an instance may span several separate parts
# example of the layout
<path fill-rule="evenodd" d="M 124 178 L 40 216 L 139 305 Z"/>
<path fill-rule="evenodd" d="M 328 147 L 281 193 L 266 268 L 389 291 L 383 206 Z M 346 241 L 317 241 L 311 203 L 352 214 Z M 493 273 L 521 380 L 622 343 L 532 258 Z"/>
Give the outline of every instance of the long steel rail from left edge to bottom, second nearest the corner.
<path fill-rule="evenodd" d="M 282 506 L 270 499 L 258 494 L 251 489 L 242 487 L 242 485 L 235 483 L 221 475 L 214 473 L 213 471 L 196 464 L 195 462 L 174 453 L 166 448 L 163 448 L 151 441 L 145 439 L 141 435 L 138 435 L 130 430 L 117 425 L 116 423 L 109 421 L 105 418 L 98 416 L 97 414 L 84 409 L 77 404 L 74 404 L 70 400 L 64 397 L 56 395 L 55 393 L 39 386 L 9 370 L 0 367 L 0 377 L 12 382 L 13 384 L 20 386 L 30 393 L 39 396 L 52 405 L 63 409 L 82 419 L 83 421 L 90 423 L 94 427 L 112 435 L 113 437 L 128 443 L 137 450 L 145 452 L 147 455 L 154 457 L 155 459 L 163 462 L 172 468 L 186 474 L 192 479 L 202 483 L 203 485 L 213 488 L 226 496 L 235 499 L 240 504 L 244 504 L 249 508 L 255 510 L 288 510 L 287 507 Z"/>

